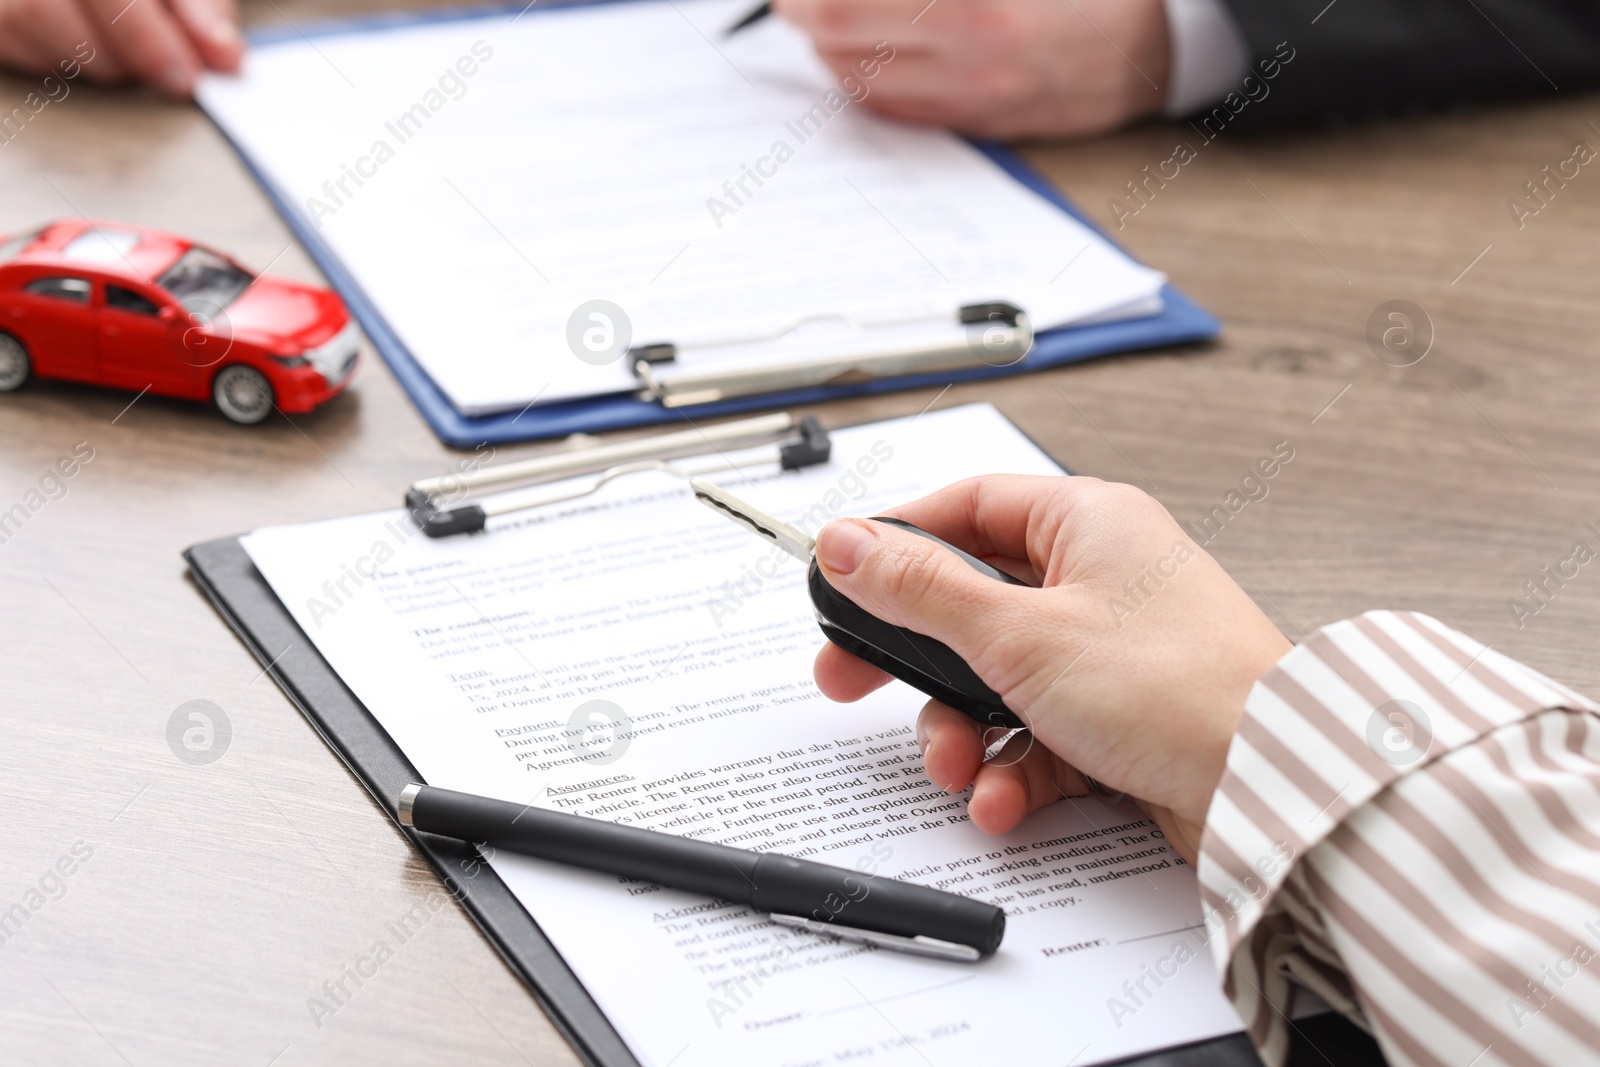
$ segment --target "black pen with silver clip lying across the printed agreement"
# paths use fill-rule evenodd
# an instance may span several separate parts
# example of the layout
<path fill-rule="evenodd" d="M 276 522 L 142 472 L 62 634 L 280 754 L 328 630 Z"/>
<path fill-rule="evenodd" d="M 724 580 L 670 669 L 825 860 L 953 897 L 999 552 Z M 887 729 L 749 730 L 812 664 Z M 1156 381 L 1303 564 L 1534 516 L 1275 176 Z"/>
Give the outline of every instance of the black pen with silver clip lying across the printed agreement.
<path fill-rule="evenodd" d="M 1005 936 L 1003 909 L 955 893 L 453 789 L 406 785 L 397 817 L 426 833 L 643 878 L 768 912 L 784 926 L 912 955 L 973 961 Z"/>

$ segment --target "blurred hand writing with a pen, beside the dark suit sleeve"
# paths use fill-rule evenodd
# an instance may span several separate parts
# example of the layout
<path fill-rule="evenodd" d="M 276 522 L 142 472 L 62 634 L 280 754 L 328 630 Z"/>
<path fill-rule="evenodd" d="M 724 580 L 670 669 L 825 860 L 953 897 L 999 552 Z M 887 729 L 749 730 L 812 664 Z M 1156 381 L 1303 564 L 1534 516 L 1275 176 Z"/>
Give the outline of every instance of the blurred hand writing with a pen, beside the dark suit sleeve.
<path fill-rule="evenodd" d="M 838 75 L 894 48 L 864 104 L 984 138 L 1082 136 L 1160 110 L 1162 0 L 774 0 Z"/>

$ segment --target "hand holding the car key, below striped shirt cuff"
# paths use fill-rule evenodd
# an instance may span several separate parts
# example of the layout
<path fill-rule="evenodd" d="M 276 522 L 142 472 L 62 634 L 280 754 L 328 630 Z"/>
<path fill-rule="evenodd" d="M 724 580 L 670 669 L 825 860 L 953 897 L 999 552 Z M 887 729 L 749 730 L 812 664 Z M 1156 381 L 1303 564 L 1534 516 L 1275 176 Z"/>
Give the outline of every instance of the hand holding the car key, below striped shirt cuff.
<path fill-rule="evenodd" d="M 1000 737 L 931 701 L 923 766 L 973 787 L 973 824 L 1005 833 L 1083 774 L 1130 793 L 1194 861 L 1256 678 L 1290 641 L 1147 494 L 1096 478 L 970 478 L 890 512 L 1038 589 L 982 577 L 885 523 L 818 539 L 827 581 L 872 614 L 949 645 L 1029 725 Z M 827 645 L 816 681 L 856 701 L 890 677 Z"/>

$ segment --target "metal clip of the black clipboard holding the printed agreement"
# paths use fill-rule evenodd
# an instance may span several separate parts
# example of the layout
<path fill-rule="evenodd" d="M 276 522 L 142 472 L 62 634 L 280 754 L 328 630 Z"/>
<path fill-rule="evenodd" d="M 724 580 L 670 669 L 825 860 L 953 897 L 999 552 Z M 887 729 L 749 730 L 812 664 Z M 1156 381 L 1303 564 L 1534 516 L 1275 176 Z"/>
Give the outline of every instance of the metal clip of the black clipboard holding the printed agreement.
<path fill-rule="evenodd" d="M 770 458 L 736 464 L 728 450 L 773 445 Z M 493 467 L 413 482 L 405 494 L 406 510 L 429 537 L 478 533 L 491 517 L 533 507 L 574 501 L 600 490 L 613 478 L 643 470 L 662 470 L 693 478 L 718 470 L 734 470 L 752 462 L 776 462 L 782 470 L 802 470 L 829 461 L 832 442 L 816 416 L 763 414 L 704 429 L 675 430 L 611 445 L 582 445 L 549 456 L 518 459 Z M 702 458 L 704 462 L 675 466 L 677 459 Z M 507 490 L 523 490 L 592 474 L 595 478 L 576 490 L 528 498 Z M 494 499 L 466 499 L 483 493 Z"/>

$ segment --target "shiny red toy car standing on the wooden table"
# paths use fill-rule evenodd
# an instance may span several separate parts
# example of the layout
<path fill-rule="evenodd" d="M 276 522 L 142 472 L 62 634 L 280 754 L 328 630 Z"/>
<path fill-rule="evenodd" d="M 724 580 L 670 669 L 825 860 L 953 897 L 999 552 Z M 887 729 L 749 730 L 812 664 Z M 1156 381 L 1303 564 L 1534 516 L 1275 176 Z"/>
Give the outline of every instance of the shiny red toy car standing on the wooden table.
<path fill-rule="evenodd" d="M 38 374 L 210 398 L 261 422 L 342 392 L 358 344 L 328 290 L 181 237 L 67 221 L 0 242 L 0 392 Z"/>

